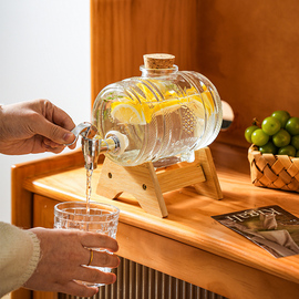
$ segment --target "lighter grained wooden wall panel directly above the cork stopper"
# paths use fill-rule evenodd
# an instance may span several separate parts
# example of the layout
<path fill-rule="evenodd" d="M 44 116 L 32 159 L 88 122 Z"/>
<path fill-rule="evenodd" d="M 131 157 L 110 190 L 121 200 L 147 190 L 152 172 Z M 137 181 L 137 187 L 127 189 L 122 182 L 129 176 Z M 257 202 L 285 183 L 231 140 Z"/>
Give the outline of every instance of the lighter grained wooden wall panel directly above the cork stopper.
<path fill-rule="evenodd" d="M 92 101 L 107 84 L 141 75 L 143 54 L 199 63 L 197 0 L 91 0 Z"/>

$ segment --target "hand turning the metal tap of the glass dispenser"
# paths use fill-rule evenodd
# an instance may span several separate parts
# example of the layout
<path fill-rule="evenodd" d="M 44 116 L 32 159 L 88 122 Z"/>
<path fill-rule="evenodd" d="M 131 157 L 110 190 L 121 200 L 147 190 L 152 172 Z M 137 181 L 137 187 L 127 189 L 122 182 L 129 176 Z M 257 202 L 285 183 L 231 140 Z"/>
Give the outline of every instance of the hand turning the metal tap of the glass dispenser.
<path fill-rule="evenodd" d="M 0 153 L 60 153 L 74 141 L 75 124 L 48 100 L 0 106 Z M 70 148 L 74 148 L 75 144 Z"/>

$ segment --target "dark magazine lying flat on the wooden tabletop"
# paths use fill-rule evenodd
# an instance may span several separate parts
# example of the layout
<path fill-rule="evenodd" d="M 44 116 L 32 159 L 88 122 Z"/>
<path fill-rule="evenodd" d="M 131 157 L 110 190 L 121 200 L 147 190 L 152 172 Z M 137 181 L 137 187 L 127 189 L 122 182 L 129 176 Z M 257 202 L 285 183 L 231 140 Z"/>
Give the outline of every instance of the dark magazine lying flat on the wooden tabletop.
<path fill-rule="evenodd" d="M 299 218 L 280 206 L 212 216 L 276 258 L 299 254 Z"/>

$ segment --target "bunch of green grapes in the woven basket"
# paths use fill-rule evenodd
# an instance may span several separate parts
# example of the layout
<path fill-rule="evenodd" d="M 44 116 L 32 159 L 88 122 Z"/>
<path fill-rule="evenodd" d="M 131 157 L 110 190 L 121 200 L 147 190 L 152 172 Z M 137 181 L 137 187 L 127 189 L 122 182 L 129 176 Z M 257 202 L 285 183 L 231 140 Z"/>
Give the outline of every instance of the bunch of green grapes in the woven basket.
<path fill-rule="evenodd" d="M 262 154 L 299 157 L 299 117 L 291 117 L 283 110 L 275 111 L 261 124 L 255 118 L 245 130 L 245 138 Z"/>

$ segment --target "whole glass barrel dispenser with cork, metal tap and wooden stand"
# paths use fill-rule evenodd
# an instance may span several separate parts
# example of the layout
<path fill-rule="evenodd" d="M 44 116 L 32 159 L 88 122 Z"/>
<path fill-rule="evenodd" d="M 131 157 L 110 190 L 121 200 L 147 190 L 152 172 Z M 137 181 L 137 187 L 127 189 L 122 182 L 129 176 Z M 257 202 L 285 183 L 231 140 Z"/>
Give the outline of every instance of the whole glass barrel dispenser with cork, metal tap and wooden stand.
<path fill-rule="evenodd" d="M 104 87 L 94 102 L 92 124 L 73 130 L 82 136 L 86 198 L 100 153 L 109 158 L 96 193 L 106 198 L 130 193 L 159 217 L 168 215 L 163 193 L 192 185 L 197 193 L 223 198 L 207 147 L 223 122 L 216 87 L 197 72 L 178 71 L 168 54 L 144 55 L 141 71 L 142 76 Z"/>

